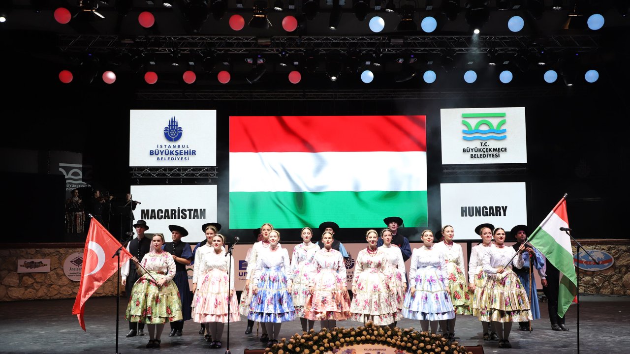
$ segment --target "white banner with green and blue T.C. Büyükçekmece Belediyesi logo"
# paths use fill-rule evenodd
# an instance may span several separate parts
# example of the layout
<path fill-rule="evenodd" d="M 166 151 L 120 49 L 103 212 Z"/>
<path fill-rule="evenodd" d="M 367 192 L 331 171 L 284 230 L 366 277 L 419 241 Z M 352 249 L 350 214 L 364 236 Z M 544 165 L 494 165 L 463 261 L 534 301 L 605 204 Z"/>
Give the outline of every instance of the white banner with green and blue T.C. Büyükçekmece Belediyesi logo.
<path fill-rule="evenodd" d="M 442 109 L 442 164 L 527 163 L 525 107 Z"/>

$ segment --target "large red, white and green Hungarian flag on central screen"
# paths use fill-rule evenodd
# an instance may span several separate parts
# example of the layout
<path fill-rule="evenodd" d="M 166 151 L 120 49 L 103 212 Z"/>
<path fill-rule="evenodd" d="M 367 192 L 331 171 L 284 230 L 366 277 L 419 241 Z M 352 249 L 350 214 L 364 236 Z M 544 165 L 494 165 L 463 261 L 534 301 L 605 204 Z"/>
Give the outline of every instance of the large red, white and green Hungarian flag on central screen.
<path fill-rule="evenodd" d="M 425 116 L 230 117 L 230 228 L 427 225 Z"/>

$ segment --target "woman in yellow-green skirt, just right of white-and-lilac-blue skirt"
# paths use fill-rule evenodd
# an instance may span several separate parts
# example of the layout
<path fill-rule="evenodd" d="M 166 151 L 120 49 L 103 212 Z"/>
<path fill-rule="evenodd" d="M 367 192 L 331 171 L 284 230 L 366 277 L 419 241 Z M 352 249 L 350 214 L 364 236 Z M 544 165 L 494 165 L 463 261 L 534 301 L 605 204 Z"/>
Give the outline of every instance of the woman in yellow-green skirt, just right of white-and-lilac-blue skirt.
<path fill-rule="evenodd" d="M 468 291 L 466 283 L 466 273 L 464 273 L 464 253 L 462 246 L 453 242 L 455 231 L 452 226 L 442 227 L 442 236 L 444 241 L 435 245 L 436 251 L 444 254 L 446 262 L 446 276 L 448 280 L 450 302 L 455 308 L 455 314 L 469 315 L 471 295 Z M 449 340 L 455 339 L 455 317 L 449 319 L 446 323 L 448 334 L 444 334 Z"/>

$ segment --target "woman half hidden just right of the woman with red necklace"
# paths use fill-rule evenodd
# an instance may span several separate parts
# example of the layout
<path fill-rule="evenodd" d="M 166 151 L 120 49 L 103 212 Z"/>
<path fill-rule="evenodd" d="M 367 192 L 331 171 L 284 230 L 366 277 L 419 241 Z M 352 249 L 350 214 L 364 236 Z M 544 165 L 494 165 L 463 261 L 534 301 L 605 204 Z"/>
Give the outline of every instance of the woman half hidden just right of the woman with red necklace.
<path fill-rule="evenodd" d="M 386 276 L 389 280 L 389 287 L 394 290 L 394 304 L 396 304 L 396 318 L 392 327 L 396 326 L 396 323 L 402 317 L 402 309 L 404 303 L 404 293 L 407 291 L 407 279 L 405 277 L 403 253 L 401 249 L 392 245 L 392 231 L 390 229 L 381 230 L 382 246 L 379 247 L 384 253 L 387 254 L 387 260 L 389 266 L 387 267 Z"/>

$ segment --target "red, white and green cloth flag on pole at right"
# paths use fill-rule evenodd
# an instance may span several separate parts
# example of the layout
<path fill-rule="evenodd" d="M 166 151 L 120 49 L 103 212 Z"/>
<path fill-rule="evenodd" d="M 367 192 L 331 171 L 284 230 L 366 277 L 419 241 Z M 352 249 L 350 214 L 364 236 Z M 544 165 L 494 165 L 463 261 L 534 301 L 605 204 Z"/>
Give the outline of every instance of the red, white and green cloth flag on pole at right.
<path fill-rule="evenodd" d="M 558 205 L 542 221 L 541 226 L 529 236 L 529 242 L 545 255 L 560 271 L 560 285 L 558 294 L 558 316 L 563 317 L 571 302 L 575 302 L 578 294 L 578 278 L 575 275 L 571 237 L 560 227 L 569 227 L 566 214 L 566 198 L 562 198 Z"/>

